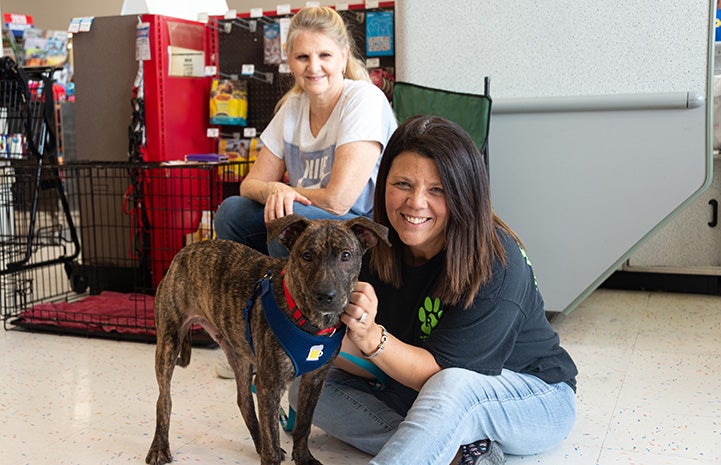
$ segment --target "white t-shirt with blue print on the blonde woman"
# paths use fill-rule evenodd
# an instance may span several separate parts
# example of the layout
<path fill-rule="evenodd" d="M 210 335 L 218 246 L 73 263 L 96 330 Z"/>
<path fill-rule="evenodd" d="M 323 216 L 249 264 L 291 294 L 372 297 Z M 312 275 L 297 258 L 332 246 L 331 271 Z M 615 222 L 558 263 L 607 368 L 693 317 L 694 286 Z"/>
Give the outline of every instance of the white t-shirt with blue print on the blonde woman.
<path fill-rule="evenodd" d="M 330 180 L 336 147 L 349 142 L 378 141 L 384 149 L 396 127 L 393 110 L 378 87 L 346 79 L 343 94 L 317 137 L 310 132 L 309 100 L 303 92 L 283 104 L 260 139 L 285 162 L 291 186 L 318 189 Z M 379 164 L 380 156 L 351 213 L 372 215 Z"/>

